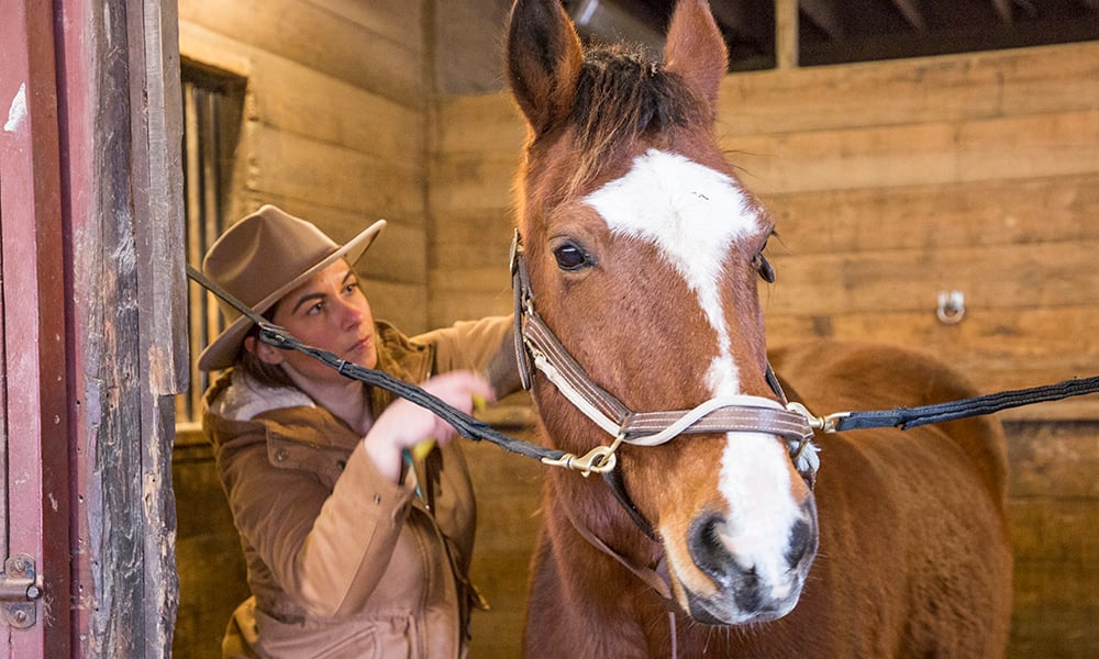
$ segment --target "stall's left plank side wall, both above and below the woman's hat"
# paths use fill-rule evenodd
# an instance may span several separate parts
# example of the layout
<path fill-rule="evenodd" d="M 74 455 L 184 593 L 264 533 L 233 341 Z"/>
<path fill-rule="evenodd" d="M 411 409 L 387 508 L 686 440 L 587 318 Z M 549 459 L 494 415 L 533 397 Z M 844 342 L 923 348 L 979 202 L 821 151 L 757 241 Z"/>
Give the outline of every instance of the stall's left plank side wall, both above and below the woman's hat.
<path fill-rule="evenodd" d="M 425 330 L 428 319 L 428 8 L 406 0 L 179 2 L 184 66 L 244 85 L 223 221 L 276 203 L 343 242 L 385 217 L 388 228 L 358 269 L 375 314 L 409 332 Z M 174 654 L 219 657 L 229 616 L 248 591 L 212 451 L 193 423 L 177 427 L 173 477 L 180 576 Z"/>

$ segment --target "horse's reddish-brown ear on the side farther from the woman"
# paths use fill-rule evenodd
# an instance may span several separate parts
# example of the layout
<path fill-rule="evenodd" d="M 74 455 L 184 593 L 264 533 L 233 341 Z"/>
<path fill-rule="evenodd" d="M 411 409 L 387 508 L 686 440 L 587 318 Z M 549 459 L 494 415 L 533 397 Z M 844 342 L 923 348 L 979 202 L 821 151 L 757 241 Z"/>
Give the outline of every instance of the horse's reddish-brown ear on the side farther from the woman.
<path fill-rule="evenodd" d="M 708 0 L 680 0 L 664 46 L 665 68 L 687 78 L 717 109 L 718 88 L 729 68 L 729 52 Z"/>

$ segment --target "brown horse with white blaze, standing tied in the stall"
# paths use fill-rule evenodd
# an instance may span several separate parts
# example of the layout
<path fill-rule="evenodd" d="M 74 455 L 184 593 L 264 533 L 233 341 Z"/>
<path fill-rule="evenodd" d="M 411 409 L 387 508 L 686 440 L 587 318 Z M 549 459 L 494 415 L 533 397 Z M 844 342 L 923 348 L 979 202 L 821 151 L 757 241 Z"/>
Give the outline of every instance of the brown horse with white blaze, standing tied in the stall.
<path fill-rule="evenodd" d="M 606 482 L 547 473 L 525 654 L 1000 656 L 1011 556 L 997 423 L 818 434 L 815 488 L 814 449 L 784 425 L 768 361 L 819 411 L 970 391 L 891 348 L 768 359 L 756 286 L 774 276 L 774 225 L 714 136 L 725 69 L 704 0 L 679 2 L 663 63 L 586 49 L 557 0 L 513 7 L 532 395 L 547 445 L 588 456 L 570 462 L 586 474 L 610 469 Z"/>

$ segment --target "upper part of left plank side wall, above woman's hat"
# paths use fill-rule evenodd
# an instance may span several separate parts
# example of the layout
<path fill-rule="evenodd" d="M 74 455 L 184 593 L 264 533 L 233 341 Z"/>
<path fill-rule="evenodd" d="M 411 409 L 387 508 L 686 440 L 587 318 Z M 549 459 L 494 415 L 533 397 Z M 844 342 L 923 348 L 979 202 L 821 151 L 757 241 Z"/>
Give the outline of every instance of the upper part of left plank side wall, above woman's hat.
<path fill-rule="evenodd" d="M 245 79 L 227 221 L 263 203 L 343 242 L 389 226 L 359 265 L 375 315 L 426 325 L 425 3 L 180 0 L 185 60 Z"/>

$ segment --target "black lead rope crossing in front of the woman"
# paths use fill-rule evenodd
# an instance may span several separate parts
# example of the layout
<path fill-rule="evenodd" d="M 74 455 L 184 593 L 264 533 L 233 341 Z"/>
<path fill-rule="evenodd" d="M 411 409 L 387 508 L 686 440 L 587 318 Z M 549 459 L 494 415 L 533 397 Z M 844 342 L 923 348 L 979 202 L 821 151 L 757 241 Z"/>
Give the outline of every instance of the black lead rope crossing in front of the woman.
<path fill-rule="evenodd" d="M 229 302 L 234 309 L 255 323 L 259 327 L 259 340 L 266 344 L 285 350 L 298 350 L 299 353 L 309 355 L 322 364 L 334 368 L 345 377 L 358 380 L 359 382 L 371 387 L 385 389 L 386 391 L 407 399 L 408 401 L 436 414 L 440 418 L 451 424 L 459 435 L 467 439 L 473 439 L 475 442 L 486 439 L 504 450 L 526 456 L 529 458 L 534 458 L 536 460 L 559 460 L 565 457 L 565 451 L 563 450 L 548 449 L 531 444 L 530 442 L 523 442 L 522 439 L 509 437 L 508 435 L 496 431 L 484 421 L 475 418 L 474 416 L 446 404 L 446 402 L 442 399 L 424 391 L 420 387 L 409 384 L 403 380 L 398 380 L 397 378 L 382 371 L 352 364 L 345 359 L 341 359 L 335 354 L 328 350 L 322 350 L 321 348 L 303 344 L 282 327 L 257 314 L 251 306 L 211 281 L 191 266 L 187 266 L 187 276 L 209 290 L 211 293 L 218 295 L 225 302 Z"/>

